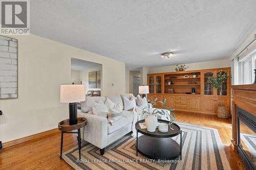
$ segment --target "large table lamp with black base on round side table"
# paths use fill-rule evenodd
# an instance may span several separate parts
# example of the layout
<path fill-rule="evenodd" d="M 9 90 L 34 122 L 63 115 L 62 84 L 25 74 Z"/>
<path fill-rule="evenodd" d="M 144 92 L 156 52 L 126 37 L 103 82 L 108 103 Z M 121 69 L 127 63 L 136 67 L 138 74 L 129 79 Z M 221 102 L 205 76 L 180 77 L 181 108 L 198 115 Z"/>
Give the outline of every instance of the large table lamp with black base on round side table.
<path fill-rule="evenodd" d="M 69 124 L 77 124 L 77 102 L 86 100 L 84 85 L 60 85 L 60 103 L 69 103 Z"/>

